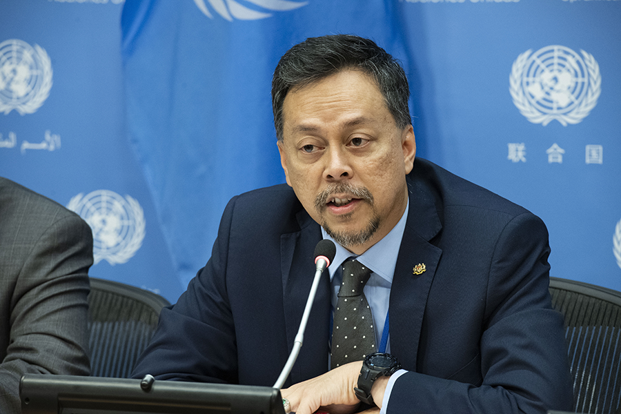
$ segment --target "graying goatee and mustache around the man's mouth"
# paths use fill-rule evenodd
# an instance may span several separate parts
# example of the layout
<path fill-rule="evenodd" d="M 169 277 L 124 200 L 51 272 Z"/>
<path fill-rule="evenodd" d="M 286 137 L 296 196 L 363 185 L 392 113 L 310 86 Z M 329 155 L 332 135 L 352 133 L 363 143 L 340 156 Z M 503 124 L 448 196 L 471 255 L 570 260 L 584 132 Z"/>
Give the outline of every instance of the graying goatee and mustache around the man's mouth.
<path fill-rule="evenodd" d="M 315 209 L 322 217 L 322 227 L 335 242 L 345 248 L 365 244 L 371 239 L 371 237 L 373 237 L 373 235 L 375 235 L 377 229 L 380 228 L 380 216 L 377 215 L 375 209 L 373 209 L 373 217 L 371 217 L 371 220 L 368 221 L 366 228 L 360 230 L 359 232 L 339 232 L 331 229 L 326 223 L 326 220 L 323 218 L 323 213 L 326 208 L 328 197 L 339 193 L 353 195 L 354 198 L 363 199 L 371 205 L 371 208 L 373 208 L 373 195 L 367 188 L 355 187 L 346 183 L 330 184 L 328 185 L 328 188 L 319 193 L 315 199 Z M 344 216 L 344 218 L 347 218 L 347 216 Z"/>

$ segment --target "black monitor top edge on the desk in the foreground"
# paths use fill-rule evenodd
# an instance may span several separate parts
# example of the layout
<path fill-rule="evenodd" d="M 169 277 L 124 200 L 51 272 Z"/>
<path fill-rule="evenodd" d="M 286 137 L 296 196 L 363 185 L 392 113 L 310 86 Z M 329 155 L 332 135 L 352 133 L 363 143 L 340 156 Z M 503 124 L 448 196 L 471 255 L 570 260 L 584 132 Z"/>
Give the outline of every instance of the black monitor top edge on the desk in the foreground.
<path fill-rule="evenodd" d="M 284 414 L 277 388 L 26 374 L 22 414 Z"/>

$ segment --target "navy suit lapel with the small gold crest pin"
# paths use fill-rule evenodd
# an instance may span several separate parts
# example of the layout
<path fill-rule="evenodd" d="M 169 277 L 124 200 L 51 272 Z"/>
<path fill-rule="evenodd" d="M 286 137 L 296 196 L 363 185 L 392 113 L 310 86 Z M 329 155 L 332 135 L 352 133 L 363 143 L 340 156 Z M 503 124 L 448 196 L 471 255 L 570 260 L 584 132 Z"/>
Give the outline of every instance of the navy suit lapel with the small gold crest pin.
<path fill-rule="evenodd" d="M 442 250 L 429 240 L 440 232 L 442 224 L 431 193 L 409 180 L 408 189 L 408 221 L 393 277 L 388 312 L 391 353 L 405 369 L 415 371 L 427 297 L 442 255 Z"/>

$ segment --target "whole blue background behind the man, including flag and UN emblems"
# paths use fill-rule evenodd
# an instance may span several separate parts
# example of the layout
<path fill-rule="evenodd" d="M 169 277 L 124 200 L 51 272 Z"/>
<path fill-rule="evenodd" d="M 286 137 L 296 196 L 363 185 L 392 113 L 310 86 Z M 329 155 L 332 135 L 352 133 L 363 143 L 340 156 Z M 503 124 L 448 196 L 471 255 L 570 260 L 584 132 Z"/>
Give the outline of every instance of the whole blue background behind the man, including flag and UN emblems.
<path fill-rule="evenodd" d="M 92 276 L 175 302 L 228 199 L 284 182 L 279 57 L 354 33 L 402 61 L 417 156 L 540 215 L 551 275 L 621 290 L 619 22 L 611 0 L 0 0 L 0 175 L 88 221 Z"/>

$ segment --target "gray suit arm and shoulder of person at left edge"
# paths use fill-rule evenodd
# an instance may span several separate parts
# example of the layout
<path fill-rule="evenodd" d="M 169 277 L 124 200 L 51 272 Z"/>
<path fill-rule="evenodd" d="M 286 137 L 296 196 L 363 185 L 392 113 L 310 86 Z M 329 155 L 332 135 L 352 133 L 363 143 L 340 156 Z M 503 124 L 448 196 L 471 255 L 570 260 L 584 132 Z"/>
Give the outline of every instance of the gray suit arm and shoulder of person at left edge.
<path fill-rule="evenodd" d="M 55 201 L 0 177 L 0 413 L 25 373 L 89 375 L 92 232 Z"/>

